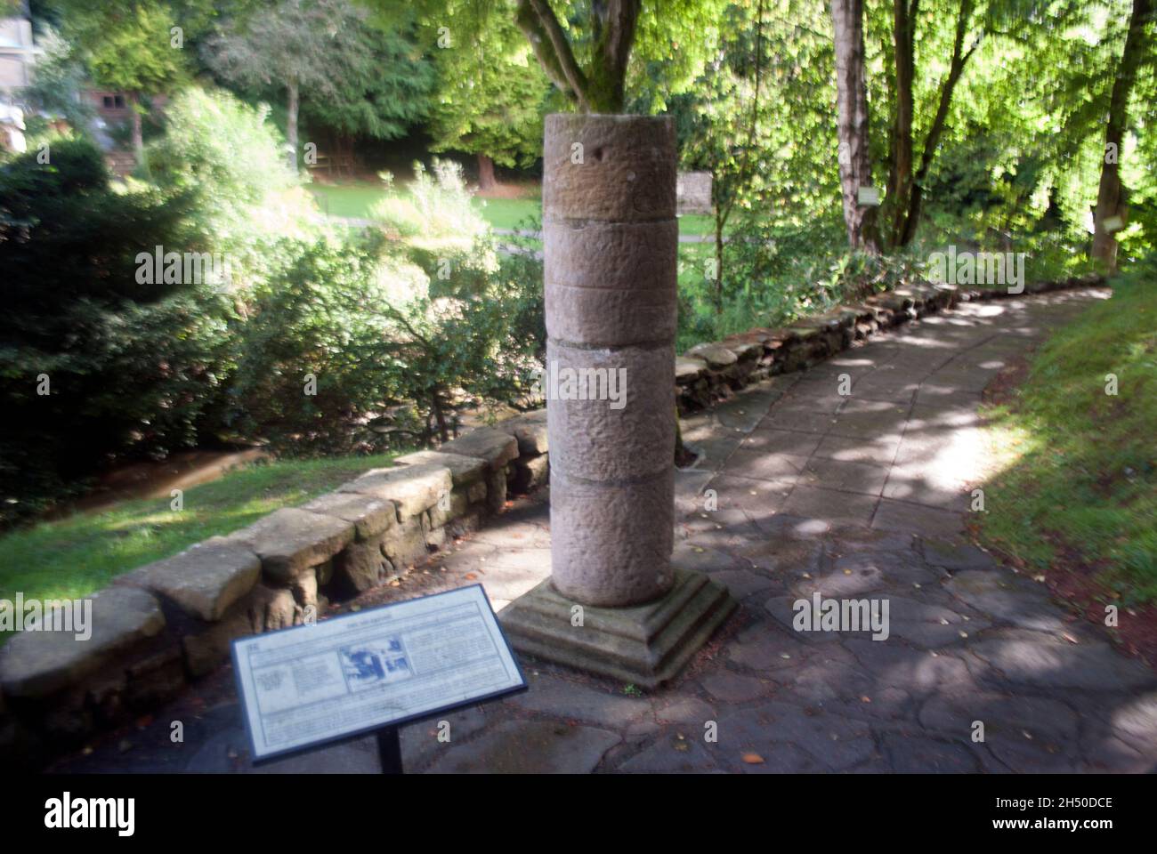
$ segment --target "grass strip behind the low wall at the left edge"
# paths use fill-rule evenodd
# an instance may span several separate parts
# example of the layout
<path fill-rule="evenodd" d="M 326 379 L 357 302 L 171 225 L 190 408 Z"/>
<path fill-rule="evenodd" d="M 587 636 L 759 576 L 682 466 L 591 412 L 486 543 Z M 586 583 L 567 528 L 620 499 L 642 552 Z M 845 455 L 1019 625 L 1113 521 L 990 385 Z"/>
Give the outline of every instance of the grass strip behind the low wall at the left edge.
<path fill-rule="evenodd" d="M 0 537 L 0 598 L 12 599 L 17 590 L 25 598 L 84 596 L 116 575 L 300 505 L 395 456 L 255 463 L 186 489 L 180 511 L 169 508 L 168 498 L 145 499 L 12 531 Z"/>

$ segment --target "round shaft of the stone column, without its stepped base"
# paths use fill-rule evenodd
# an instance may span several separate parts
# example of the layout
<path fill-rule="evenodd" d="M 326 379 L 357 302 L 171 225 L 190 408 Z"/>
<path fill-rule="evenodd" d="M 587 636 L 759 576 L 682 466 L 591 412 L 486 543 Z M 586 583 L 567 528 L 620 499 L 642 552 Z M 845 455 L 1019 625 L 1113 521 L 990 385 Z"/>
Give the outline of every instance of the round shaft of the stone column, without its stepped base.
<path fill-rule="evenodd" d="M 587 605 L 673 583 L 675 185 L 669 118 L 546 117 L 552 581 Z"/>

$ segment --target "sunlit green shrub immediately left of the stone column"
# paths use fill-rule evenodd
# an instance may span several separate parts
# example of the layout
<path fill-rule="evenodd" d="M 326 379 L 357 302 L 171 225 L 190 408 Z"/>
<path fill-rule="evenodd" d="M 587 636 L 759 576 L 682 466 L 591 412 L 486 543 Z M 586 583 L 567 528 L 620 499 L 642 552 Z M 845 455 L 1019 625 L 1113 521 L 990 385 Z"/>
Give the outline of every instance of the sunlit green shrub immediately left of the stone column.
<path fill-rule="evenodd" d="M 529 384 L 541 318 L 525 279 L 435 288 L 370 233 L 300 244 L 256 294 L 230 390 L 233 426 L 283 454 L 370 452 L 447 439 L 457 411 Z"/>

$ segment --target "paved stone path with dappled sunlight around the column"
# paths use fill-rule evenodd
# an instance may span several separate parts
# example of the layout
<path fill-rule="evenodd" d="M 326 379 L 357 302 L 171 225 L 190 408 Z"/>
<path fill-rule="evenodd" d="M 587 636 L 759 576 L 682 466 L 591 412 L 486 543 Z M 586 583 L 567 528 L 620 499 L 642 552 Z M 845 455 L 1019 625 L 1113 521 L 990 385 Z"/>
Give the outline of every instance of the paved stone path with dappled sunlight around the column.
<path fill-rule="evenodd" d="M 1157 767 L 1152 671 L 963 536 L 983 476 L 981 390 L 1010 356 L 1104 295 L 966 303 L 685 419 L 703 457 L 679 473 L 675 561 L 723 581 L 738 614 L 676 684 L 648 695 L 524 662 L 530 691 L 448 715 L 449 743 L 437 722 L 405 728 L 407 770 Z M 367 604 L 480 580 L 503 606 L 550 573 L 545 500 L 519 502 Z M 793 603 L 816 591 L 886 598 L 889 638 L 794 631 Z M 251 771 L 230 677 L 216 678 L 215 701 L 178 701 L 61 767 Z M 182 745 L 168 739 L 171 719 L 185 722 Z M 973 741 L 978 721 L 982 742 Z M 375 772 L 375 745 L 263 771 Z"/>

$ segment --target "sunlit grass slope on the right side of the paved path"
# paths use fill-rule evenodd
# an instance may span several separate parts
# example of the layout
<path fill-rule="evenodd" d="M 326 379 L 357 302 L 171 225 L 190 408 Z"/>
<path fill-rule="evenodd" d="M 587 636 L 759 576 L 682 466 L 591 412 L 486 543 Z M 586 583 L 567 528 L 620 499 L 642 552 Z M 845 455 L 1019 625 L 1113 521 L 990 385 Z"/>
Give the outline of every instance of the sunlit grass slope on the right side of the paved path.
<path fill-rule="evenodd" d="M 987 413 L 1002 469 L 983 485 L 982 542 L 1034 574 L 1076 569 L 1125 605 L 1157 601 L 1152 279 L 1151 268 L 1118 278 L 1112 299 L 1057 330 Z"/>

